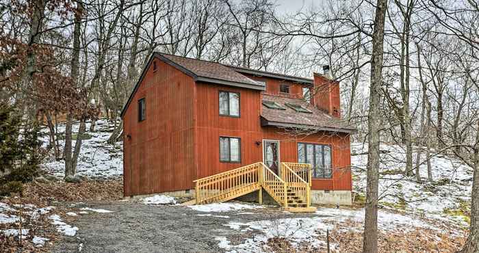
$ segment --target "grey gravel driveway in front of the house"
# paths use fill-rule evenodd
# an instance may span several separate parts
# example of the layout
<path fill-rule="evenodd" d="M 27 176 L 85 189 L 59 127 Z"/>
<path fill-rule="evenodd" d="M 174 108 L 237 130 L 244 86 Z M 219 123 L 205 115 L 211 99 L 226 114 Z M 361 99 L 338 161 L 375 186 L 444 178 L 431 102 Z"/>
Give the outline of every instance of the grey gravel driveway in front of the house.
<path fill-rule="evenodd" d="M 146 205 L 133 200 L 87 204 L 113 213 L 80 215 L 68 224 L 79 228 L 75 237 L 62 237 L 53 252 L 222 252 L 215 237 L 241 240 L 241 233 L 224 224 L 273 217 L 298 217 L 278 207 L 204 213 L 183 206 Z M 203 216 L 198 216 L 203 215 Z M 227 215 L 214 217 L 212 215 Z"/>

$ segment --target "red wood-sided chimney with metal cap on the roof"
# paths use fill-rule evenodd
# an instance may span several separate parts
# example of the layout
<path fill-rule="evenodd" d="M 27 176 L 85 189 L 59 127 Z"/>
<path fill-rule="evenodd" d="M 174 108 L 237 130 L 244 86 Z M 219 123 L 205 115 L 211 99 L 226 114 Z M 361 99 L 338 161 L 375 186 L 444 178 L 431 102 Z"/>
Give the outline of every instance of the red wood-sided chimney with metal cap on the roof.
<path fill-rule="evenodd" d="M 329 76 L 329 66 L 323 66 L 324 74 L 313 73 L 313 104 L 318 109 L 337 118 L 341 117 L 341 101 L 339 98 L 339 81 L 334 81 Z"/>

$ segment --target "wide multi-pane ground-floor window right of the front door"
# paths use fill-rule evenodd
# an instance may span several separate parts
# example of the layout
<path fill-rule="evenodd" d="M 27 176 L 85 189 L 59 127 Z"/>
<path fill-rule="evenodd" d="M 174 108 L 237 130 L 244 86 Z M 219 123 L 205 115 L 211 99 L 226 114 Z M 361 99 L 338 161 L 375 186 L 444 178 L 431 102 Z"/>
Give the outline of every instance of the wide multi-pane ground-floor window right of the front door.
<path fill-rule="evenodd" d="M 313 166 L 313 178 L 331 178 L 331 146 L 298 143 L 298 163 Z"/>

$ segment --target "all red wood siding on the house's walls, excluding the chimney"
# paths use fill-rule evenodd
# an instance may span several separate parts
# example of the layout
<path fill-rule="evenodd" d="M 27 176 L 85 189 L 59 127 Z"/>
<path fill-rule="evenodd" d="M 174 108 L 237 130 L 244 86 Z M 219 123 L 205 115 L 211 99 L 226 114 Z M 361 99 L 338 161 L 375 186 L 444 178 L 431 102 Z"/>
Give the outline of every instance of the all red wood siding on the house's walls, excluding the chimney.
<path fill-rule="evenodd" d="M 266 92 L 234 88 L 194 79 L 159 59 L 153 64 L 127 107 L 124 120 L 124 194 L 153 194 L 193 189 L 197 178 L 263 161 L 263 139 L 280 141 L 280 161 L 298 161 L 298 142 L 332 146 L 334 168 L 350 165 L 350 138 L 346 134 L 315 133 L 294 137 L 281 129 L 261 127 L 261 96 L 279 94 L 290 85 L 291 97 L 301 98 L 298 83 L 266 81 Z M 219 115 L 219 92 L 239 92 L 240 117 Z M 138 122 L 138 100 L 146 98 L 146 120 Z M 220 162 L 219 137 L 241 138 L 241 162 Z M 313 179 L 311 189 L 351 190 L 351 174 L 334 172 L 331 179 Z"/>

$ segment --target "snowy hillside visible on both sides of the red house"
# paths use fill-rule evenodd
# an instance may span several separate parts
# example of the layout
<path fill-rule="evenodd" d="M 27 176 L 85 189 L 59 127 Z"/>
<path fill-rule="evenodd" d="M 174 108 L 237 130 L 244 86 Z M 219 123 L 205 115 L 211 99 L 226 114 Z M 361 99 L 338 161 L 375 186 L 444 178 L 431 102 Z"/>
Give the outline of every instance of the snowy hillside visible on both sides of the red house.
<path fill-rule="evenodd" d="M 79 125 L 74 124 L 73 131 Z M 87 129 L 89 123 L 87 124 Z M 122 176 L 122 143 L 112 146 L 107 139 L 113 131 L 113 123 L 107 120 L 96 122 L 96 132 L 87 133 L 81 146 L 77 173 L 95 179 L 118 178 Z M 59 135 L 64 134 L 64 124 L 58 126 Z M 47 144 L 48 136 L 43 137 Z M 63 145 L 62 140 L 60 144 Z M 467 226 L 470 211 L 472 169 L 456 159 L 438 155 L 431 158 L 433 183 L 428 183 L 426 164 L 420 166 L 423 182 L 415 177 L 405 177 L 404 148 L 383 144 L 380 147 L 381 168 L 380 204 L 383 209 L 405 211 L 415 215 L 426 215 L 435 219 L 450 219 L 461 226 Z M 353 187 L 355 200 L 361 202 L 365 196 L 367 144 L 352 143 Z M 414 159 L 416 154 L 414 154 Z M 424 155 L 422 156 L 424 160 Z M 58 178 L 64 175 L 64 161 L 49 157 L 42 168 Z"/>

